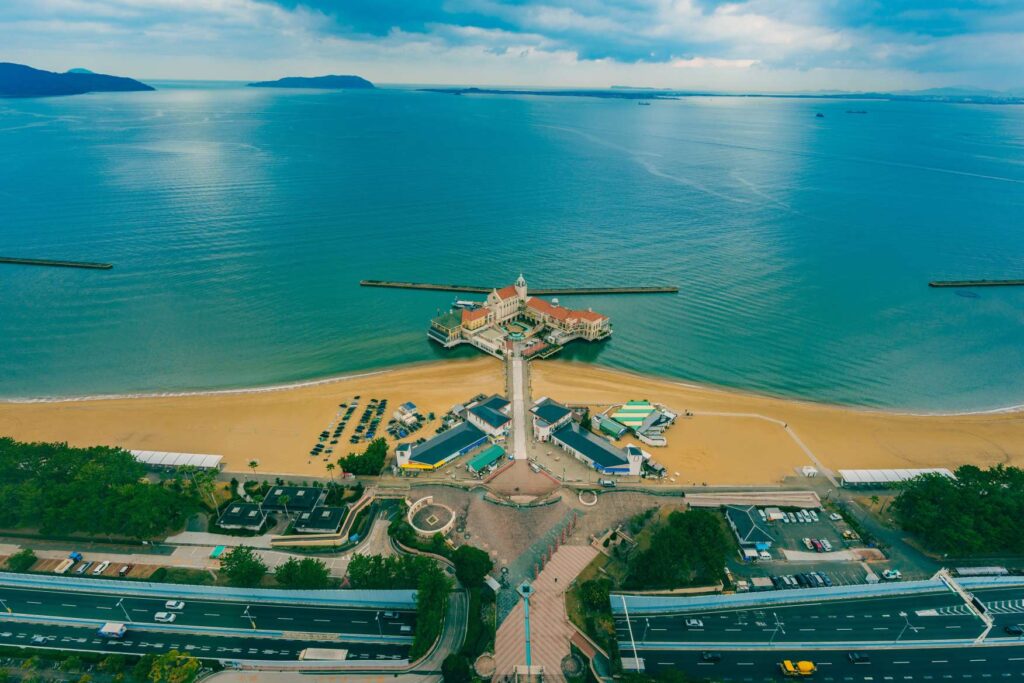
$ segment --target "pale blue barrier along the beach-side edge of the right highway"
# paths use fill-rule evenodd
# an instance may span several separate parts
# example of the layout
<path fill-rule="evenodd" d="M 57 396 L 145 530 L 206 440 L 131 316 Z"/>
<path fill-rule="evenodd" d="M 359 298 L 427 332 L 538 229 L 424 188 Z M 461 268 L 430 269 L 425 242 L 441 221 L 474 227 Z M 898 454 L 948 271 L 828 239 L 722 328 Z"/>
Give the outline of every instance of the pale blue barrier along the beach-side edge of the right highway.
<path fill-rule="evenodd" d="M 761 591 L 717 596 L 654 596 L 654 595 L 611 595 L 611 611 L 614 614 L 670 614 L 689 611 L 707 611 L 730 607 L 744 607 L 773 604 L 798 604 L 804 602 L 825 602 L 857 598 L 884 598 L 897 595 L 937 593 L 949 588 L 938 579 L 928 581 L 894 582 L 891 584 L 862 584 L 856 586 L 835 586 L 833 588 L 798 589 L 795 591 Z M 625 600 L 625 605 L 623 601 Z"/>

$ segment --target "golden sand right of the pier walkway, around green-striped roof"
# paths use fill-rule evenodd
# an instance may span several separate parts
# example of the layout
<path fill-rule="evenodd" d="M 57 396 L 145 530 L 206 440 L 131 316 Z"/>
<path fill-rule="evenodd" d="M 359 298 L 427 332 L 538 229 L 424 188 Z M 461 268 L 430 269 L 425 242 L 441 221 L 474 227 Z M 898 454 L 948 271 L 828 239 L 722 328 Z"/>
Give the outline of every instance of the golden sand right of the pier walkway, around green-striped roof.
<path fill-rule="evenodd" d="M 679 483 L 778 482 L 811 464 L 791 433 L 831 469 L 1024 466 L 1022 411 L 949 416 L 885 413 L 557 361 L 535 364 L 531 381 L 535 396 L 548 394 L 602 409 L 611 402 L 648 399 L 680 414 L 695 413 L 669 429 L 667 447 L 645 446 L 670 472 L 680 473 Z"/>

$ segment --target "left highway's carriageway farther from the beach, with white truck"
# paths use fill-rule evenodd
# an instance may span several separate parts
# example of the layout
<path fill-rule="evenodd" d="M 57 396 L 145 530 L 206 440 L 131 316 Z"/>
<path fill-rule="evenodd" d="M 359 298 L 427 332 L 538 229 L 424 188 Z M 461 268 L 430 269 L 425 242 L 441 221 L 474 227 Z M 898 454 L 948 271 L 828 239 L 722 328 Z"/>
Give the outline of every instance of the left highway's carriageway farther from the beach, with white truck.
<path fill-rule="evenodd" d="M 42 642 L 34 642 L 42 638 Z M 194 633 L 142 631 L 129 627 L 121 640 L 100 638 L 93 627 L 54 626 L 0 621 L 0 645 L 48 647 L 61 650 L 116 652 L 121 654 L 159 654 L 171 649 L 199 657 L 229 659 L 298 659 L 307 647 L 348 650 L 348 659 L 404 659 L 409 645 L 378 643 L 341 643 L 325 640 L 211 636 Z"/>

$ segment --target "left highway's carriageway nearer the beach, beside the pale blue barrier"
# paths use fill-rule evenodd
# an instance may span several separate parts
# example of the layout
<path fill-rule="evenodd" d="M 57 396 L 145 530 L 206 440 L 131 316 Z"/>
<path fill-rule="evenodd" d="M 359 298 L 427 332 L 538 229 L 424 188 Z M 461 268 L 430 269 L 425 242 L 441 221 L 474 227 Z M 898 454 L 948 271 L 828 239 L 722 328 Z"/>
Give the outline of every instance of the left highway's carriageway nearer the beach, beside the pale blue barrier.
<path fill-rule="evenodd" d="M 35 590 L 0 586 L 0 609 L 17 614 L 73 616 L 111 622 L 154 622 L 154 614 L 167 611 L 167 598 L 125 597 L 110 593 Z M 350 636 L 411 637 L 416 613 L 387 609 L 319 607 L 272 603 L 240 603 L 186 599 L 177 610 L 175 626 L 225 629 L 335 633 Z M 248 608 L 248 615 L 246 609 Z M 251 617 L 251 618 L 250 618 Z M 407 631 L 402 631 L 402 627 Z"/>

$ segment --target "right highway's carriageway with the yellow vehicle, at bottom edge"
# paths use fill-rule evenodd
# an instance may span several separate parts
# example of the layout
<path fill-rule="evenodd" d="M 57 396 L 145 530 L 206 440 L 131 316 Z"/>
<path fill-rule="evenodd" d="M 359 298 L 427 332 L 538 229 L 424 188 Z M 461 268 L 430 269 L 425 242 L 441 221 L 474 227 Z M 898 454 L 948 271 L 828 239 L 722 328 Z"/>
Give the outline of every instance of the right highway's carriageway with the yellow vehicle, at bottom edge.
<path fill-rule="evenodd" d="M 700 661 L 698 650 L 639 650 L 645 671 L 683 671 L 714 681 L 780 681 L 782 659 L 809 659 L 818 671 L 807 679 L 813 683 L 945 683 L 946 681 L 1024 681 L 1024 645 L 1009 647 L 918 648 L 858 650 L 868 655 L 866 664 L 852 664 L 847 650 L 754 650 L 719 651 L 721 661 Z M 624 656 L 632 651 L 623 650 Z"/>

